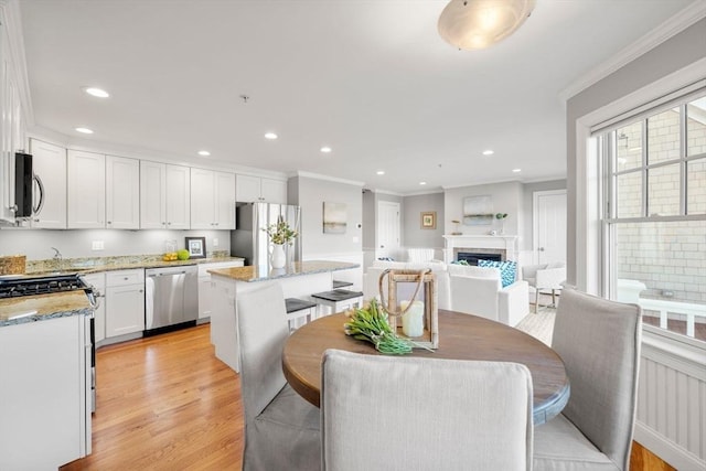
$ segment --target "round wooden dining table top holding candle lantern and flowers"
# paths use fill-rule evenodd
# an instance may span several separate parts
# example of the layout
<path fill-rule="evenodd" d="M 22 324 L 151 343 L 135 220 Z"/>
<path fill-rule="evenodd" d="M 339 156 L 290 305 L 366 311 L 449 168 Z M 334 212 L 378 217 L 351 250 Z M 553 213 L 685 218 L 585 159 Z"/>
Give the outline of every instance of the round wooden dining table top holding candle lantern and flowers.
<path fill-rule="evenodd" d="M 282 353 L 285 377 L 304 399 L 319 407 L 321 357 L 327 349 L 368 355 L 381 354 L 372 343 L 343 332 L 345 314 L 304 324 L 289 336 Z M 530 368 L 534 387 L 534 424 L 549 420 L 569 398 L 564 362 L 552 349 L 517 329 L 477 315 L 439 310 L 439 349 L 415 349 L 406 356 L 522 363 Z"/>

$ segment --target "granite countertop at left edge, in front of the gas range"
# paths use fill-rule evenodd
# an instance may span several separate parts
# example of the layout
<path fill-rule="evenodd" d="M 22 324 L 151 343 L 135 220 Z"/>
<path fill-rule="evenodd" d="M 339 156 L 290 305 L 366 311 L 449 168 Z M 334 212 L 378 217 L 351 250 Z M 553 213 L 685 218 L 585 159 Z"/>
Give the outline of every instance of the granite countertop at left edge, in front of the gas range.
<path fill-rule="evenodd" d="M 0 328 L 92 313 L 83 290 L 0 299 Z"/>

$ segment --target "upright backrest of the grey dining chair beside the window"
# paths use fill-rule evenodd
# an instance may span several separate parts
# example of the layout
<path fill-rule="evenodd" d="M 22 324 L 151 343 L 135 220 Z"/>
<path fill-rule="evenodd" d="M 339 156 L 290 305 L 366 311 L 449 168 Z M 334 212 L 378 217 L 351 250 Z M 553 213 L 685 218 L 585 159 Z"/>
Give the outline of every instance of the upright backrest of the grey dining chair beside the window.
<path fill-rule="evenodd" d="M 642 309 L 564 289 L 552 347 L 571 385 L 563 414 L 622 468 L 634 429 Z"/>

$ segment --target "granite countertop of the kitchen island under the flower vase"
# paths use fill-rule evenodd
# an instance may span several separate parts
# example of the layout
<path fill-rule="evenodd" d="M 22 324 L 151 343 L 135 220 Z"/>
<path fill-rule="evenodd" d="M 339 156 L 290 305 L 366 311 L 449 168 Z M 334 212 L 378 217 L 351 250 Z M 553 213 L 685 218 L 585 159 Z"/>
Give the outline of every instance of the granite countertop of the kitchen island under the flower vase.
<path fill-rule="evenodd" d="M 236 281 L 266 281 L 277 278 L 298 277 L 302 275 L 323 274 L 329 271 L 347 270 L 360 267 L 359 264 L 331 260 L 295 261 L 287 268 L 269 268 L 247 266 L 235 268 L 217 268 L 208 270 L 211 275 L 231 278 Z"/>

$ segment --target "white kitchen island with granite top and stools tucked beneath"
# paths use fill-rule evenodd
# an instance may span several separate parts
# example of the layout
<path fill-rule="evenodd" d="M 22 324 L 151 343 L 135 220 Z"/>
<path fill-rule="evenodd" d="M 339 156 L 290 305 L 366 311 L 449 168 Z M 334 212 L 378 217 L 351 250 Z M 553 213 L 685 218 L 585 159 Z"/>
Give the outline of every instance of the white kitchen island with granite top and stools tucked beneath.
<path fill-rule="evenodd" d="M 208 270 L 213 283 L 211 343 L 216 357 L 239 372 L 239 347 L 236 335 L 237 295 L 257 289 L 263 283 L 279 283 L 285 298 L 308 298 L 333 288 L 333 272 L 359 268 L 357 264 L 330 260 L 295 261 L 287 268 L 247 266 Z"/>

